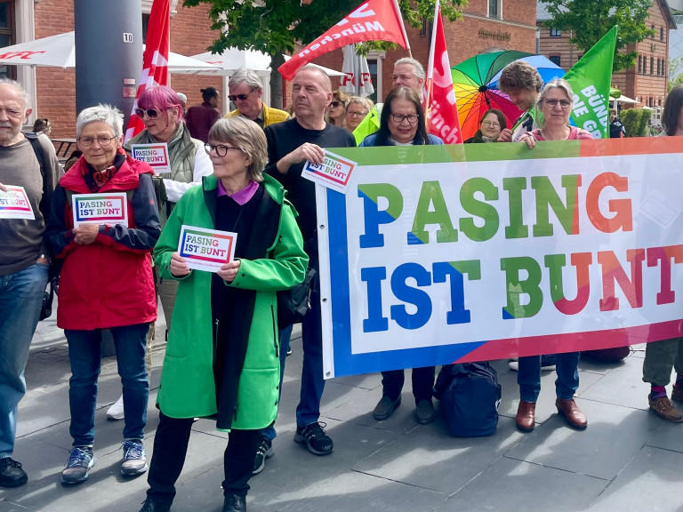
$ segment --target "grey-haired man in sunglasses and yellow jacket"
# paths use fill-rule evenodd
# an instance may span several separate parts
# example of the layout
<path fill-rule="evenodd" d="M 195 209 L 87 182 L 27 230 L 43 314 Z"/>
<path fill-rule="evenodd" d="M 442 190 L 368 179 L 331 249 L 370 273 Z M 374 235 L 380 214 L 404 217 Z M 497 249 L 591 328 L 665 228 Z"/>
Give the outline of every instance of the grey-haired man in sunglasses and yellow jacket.
<path fill-rule="evenodd" d="M 235 75 L 230 76 L 229 100 L 237 107 L 226 117 L 244 116 L 265 128 L 270 124 L 281 123 L 289 119 L 285 110 L 267 107 L 261 100 L 263 84 L 261 78 L 251 69 L 241 68 Z"/>

